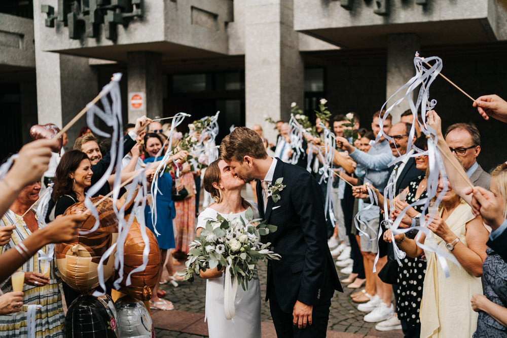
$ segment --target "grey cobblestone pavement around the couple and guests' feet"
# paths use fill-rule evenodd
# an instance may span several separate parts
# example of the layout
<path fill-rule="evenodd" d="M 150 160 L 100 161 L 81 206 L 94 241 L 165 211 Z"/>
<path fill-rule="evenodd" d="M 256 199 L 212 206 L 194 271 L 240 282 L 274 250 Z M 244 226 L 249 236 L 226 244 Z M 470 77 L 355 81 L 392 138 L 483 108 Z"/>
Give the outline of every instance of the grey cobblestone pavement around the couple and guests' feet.
<path fill-rule="evenodd" d="M 177 269 L 183 270 L 184 265 L 176 266 Z M 346 278 L 345 275 L 338 273 L 340 278 Z M 259 279 L 261 283 L 261 295 L 266 294 L 266 264 L 259 265 Z M 352 333 L 352 335 L 343 336 L 386 336 L 390 338 L 402 337 L 401 330 L 379 332 L 373 327 L 374 323 L 367 323 L 363 320 L 365 313 L 357 310 L 357 305 L 352 302 L 349 294 L 357 289 L 348 289 L 343 285 L 345 292 L 336 292 L 331 302 L 330 320 L 328 330 Z M 180 282 L 178 287 L 171 284 L 162 286 L 167 292 L 166 298 L 173 302 L 176 311 L 190 312 L 204 315 L 204 299 L 206 292 L 206 283 L 200 278 L 196 278 L 193 284 L 188 282 Z M 160 313 L 160 311 L 157 311 Z M 163 313 L 164 316 L 171 316 L 171 311 Z M 261 320 L 263 322 L 271 322 L 269 313 L 269 305 L 267 302 L 261 302 Z M 204 324 L 205 325 L 205 324 Z M 156 325 L 157 326 L 157 325 Z M 373 329 L 372 329 L 373 328 Z M 156 329 L 157 337 L 202 337 L 205 335 L 196 335 L 186 332 L 172 331 L 166 329 Z M 355 334 L 354 334 L 355 333 Z"/>

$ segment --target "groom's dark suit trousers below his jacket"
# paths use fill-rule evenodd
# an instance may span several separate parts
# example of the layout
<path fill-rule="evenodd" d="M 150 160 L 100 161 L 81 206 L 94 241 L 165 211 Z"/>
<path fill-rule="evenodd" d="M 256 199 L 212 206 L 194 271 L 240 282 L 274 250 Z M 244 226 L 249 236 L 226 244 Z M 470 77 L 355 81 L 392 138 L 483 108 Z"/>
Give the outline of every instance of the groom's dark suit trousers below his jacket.
<path fill-rule="evenodd" d="M 329 308 L 331 307 L 331 299 L 328 303 L 313 306 L 312 325 L 299 329 L 293 324 L 293 316 L 291 313 L 283 312 L 280 309 L 275 295 L 269 297 L 269 308 L 273 324 L 275 324 L 276 336 L 278 338 L 299 338 L 325 337 L 328 330 Z"/>

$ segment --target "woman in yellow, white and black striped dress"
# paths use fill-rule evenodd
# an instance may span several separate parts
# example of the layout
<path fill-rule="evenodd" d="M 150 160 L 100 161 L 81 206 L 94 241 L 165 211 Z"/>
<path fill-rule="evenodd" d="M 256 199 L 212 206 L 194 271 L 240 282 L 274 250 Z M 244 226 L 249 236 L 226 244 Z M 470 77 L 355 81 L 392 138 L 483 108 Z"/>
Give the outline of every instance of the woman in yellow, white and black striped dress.
<path fill-rule="evenodd" d="M 9 243 L 0 247 L 2 254 L 39 230 L 38 219 L 33 210 L 29 210 L 23 218 L 21 215 L 37 201 L 40 190 L 41 182 L 26 186 L 3 215 L 0 227 L 15 224 L 16 229 L 12 232 Z M 58 289 L 60 279 L 57 279 L 55 275 L 54 261 L 47 262 L 47 260 L 40 259 L 49 253 L 50 245 L 43 247 L 23 264 L 21 268 L 25 272 L 23 307 L 21 312 L 0 316 L 0 336 L 27 336 L 27 308 L 25 306 L 32 304 L 40 306 L 35 313 L 35 331 L 38 338 L 63 337 L 65 335 L 65 316 L 61 293 Z M 10 278 L 0 286 L 3 292 L 12 291 Z"/>

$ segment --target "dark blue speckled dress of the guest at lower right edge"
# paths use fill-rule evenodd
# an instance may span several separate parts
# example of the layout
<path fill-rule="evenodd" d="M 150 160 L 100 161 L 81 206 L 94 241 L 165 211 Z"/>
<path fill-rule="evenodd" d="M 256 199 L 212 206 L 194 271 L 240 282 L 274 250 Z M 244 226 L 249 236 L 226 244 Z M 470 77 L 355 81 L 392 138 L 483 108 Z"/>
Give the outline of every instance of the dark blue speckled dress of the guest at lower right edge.
<path fill-rule="evenodd" d="M 493 249 L 482 265 L 484 295 L 493 303 L 507 307 L 507 263 Z M 500 338 L 507 336 L 507 328 L 484 311 L 479 311 L 474 338 Z"/>

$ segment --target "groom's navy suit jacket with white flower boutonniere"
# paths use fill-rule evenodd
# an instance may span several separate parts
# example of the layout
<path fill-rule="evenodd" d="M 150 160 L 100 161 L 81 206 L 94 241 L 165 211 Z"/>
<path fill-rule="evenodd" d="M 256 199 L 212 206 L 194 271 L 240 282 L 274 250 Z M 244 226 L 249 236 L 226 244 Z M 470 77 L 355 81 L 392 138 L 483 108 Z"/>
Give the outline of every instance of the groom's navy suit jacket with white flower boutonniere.
<path fill-rule="evenodd" d="M 281 255 L 268 261 L 266 301 L 276 297 L 280 308 L 292 313 L 296 301 L 328 303 L 334 290 L 343 290 L 327 244 L 320 186 L 304 168 L 277 159 L 272 184 L 280 177 L 286 187 L 276 203 L 268 198 L 266 213 L 260 181 L 257 199 L 261 218 L 278 227 L 266 240 Z"/>

